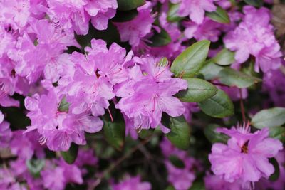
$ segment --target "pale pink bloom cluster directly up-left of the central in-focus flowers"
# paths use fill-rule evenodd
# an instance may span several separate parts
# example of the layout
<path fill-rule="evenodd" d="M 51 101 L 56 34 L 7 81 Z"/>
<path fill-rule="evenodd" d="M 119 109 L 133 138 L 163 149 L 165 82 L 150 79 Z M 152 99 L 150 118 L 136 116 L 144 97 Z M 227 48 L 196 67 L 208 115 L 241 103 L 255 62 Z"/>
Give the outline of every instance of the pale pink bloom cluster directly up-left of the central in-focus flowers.
<path fill-rule="evenodd" d="M 25 76 L 30 82 L 36 82 L 44 75 L 52 83 L 60 77 L 73 75 L 69 54 L 63 53 L 67 46 L 77 44 L 73 34 L 65 33 L 62 28 L 55 28 L 47 20 L 35 21 L 31 30 L 36 34 L 36 39 L 25 33 L 19 40 L 18 53 L 21 58 L 18 60 L 12 57 L 17 62 L 16 73 Z M 36 46 L 33 41 L 36 41 Z"/>

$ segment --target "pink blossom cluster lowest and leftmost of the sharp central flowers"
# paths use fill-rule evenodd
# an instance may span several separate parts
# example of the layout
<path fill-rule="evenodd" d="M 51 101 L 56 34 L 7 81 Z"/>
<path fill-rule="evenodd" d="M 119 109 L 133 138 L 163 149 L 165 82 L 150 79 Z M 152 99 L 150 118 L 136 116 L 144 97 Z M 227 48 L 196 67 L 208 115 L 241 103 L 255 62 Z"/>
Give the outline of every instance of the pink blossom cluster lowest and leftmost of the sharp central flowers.
<path fill-rule="evenodd" d="M 31 119 L 31 126 L 26 132 L 38 130 L 42 135 L 41 143 L 46 143 L 51 150 L 68 150 L 71 142 L 86 144 L 84 132 L 98 132 L 103 127 L 103 122 L 90 115 L 90 112 L 83 112 L 78 115 L 68 112 L 59 112 L 59 97 L 54 90 L 48 95 L 33 95 L 26 97 L 25 107 L 27 116 Z"/>

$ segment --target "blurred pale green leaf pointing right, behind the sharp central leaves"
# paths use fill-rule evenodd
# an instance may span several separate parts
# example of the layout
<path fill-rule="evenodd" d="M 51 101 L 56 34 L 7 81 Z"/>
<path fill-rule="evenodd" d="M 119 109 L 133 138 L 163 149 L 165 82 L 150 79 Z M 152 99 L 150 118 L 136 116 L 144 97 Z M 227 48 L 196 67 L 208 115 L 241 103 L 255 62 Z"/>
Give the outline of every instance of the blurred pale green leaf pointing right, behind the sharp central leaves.
<path fill-rule="evenodd" d="M 262 80 L 232 68 L 224 68 L 219 72 L 219 81 L 224 85 L 247 88 Z"/>

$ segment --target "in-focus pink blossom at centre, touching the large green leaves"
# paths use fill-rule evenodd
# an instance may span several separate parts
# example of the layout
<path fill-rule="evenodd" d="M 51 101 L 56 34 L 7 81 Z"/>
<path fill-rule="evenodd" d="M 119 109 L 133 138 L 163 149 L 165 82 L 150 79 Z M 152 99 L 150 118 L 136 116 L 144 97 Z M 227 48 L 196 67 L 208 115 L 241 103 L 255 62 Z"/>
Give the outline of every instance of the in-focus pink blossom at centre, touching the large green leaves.
<path fill-rule="evenodd" d="M 116 107 L 133 120 L 135 129 L 157 127 L 160 125 L 162 112 L 172 117 L 182 115 L 185 107 L 173 95 L 186 89 L 187 82 L 171 78 L 172 73 L 167 65 L 157 65 L 158 60 L 155 58 L 135 58 L 134 61 L 140 67 L 133 66 L 131 71 L 137 74 L 118 89 L 117 95 L 122 98 Z M 167 132 L 165 127 L 162 130 Z"/>

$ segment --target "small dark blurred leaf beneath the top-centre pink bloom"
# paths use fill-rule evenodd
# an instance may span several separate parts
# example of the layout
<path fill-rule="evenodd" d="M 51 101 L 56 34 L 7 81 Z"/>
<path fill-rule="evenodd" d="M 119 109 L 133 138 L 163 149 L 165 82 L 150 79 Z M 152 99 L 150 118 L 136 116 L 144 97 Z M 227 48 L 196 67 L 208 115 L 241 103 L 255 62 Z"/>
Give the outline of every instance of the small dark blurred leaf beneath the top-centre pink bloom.
<path fill-rule="evenodd" d="M 150 43 L 147 43 L 149 46 L 166 46 L 171 42 L 171 37 L 165 29 L 160 28 L 160 33 L 155 31 L 154 35 L 149 40 L 151 41 Z"/>

